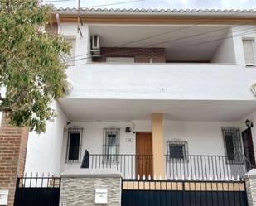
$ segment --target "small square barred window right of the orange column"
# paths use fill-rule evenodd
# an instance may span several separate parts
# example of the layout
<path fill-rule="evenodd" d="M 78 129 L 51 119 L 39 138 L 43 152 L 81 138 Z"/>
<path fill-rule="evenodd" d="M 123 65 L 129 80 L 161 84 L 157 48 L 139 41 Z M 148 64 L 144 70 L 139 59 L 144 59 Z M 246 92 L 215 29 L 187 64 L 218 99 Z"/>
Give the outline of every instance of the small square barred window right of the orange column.
<path fill-rule="evenodd" d="M 187 141 L 167 141 L 169 160 L 186 160 Z"/>

